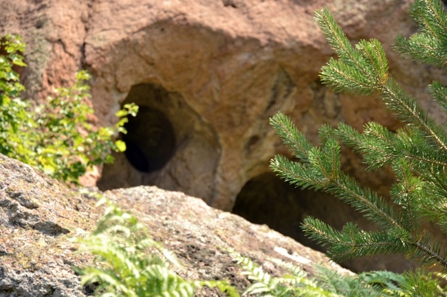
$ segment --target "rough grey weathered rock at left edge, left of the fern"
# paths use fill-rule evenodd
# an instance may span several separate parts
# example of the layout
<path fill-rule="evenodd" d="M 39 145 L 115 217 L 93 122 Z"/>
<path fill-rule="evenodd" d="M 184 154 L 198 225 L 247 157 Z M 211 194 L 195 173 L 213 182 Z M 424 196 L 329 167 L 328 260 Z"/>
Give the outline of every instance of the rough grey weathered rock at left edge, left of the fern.
<path fill-rule="evenodd" d="M 4 156 L 0 187 L 0 296 L 85 296 L 67 237 L 94 225 L 94 202 Z"/>

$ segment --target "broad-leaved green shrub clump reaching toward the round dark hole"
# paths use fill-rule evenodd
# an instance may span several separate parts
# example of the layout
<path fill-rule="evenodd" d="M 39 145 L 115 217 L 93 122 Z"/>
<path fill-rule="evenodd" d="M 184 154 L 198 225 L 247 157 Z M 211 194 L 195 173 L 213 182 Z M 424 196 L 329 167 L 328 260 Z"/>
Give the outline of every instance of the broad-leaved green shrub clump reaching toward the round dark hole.
<path fill-rule="evenodd" d="M 113 141 L 113 135 L 126 132 L 123 125 L 127 116 L 135 117 L 138 112 L 138 106 L 126 104 L 117 112 L 123 118 L 116 126 L 94 128 L 89 123 L 94 109 L 85 102 L 89 97 L 85 82 L 89 78 L 86 71 L 80 71 L 73 86 L 57 88 L 56 95 L 47 97 L 47 104 L 37 107 L 34 114 L 39 127 L 36 142 L 32 143 L 37 152 L 36 165 L 46 174 L 68 182 L 77 182 L 94 165 L 112 163 L 110 150 L 126 150 L 123 141 Z"/>

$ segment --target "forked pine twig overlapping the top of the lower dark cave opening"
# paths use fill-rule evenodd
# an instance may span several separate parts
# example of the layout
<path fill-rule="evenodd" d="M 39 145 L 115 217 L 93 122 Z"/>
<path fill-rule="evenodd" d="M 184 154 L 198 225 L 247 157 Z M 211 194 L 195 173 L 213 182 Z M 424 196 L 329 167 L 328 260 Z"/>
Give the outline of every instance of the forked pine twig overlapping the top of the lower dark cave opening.
<path fill-rule="evenodd" d="M 290 119 L 279 114 L 274 120 L 280 135 L 294 134 L 296 127 L 291 126 Z M 394 218 L 391 207 L 387 206 L 382 198 L 369 189 L 363 189 L 356 180 L 341 171 L 340 145 L 335 139 L 334 129 L 323 126 L 320 129 L 320 138 L 323 142 L 322 147 L 312 147 L 307 152 L 301 152 L 305 154 L 300 160 L 304 163 L 275 156 L 271 162 L 272 169 L 292 185 L 335 194 L 384 228 L 390 226 L 402 228 L 398 223 L 399 220 Z M 305 141 L 307 143 L 307 140 Z M 303 144 L 298 143 L 298 147 L 303 147 Z"/>

